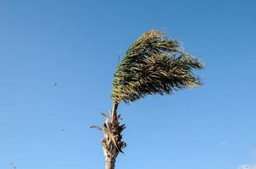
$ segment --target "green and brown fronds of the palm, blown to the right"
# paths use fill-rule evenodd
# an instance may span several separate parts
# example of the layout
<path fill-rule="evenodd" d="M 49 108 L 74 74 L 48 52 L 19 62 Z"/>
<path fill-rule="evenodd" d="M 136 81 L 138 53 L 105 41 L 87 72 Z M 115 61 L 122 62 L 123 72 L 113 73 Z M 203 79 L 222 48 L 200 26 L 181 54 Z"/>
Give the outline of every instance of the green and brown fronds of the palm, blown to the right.
<path fill-rule="evenodd" d="M 181 50 L 177 41 L 150 30 L 125 53 L 114 74 L 112 100 L 136 101 L 145 95 L 171 94 L 174 90 L 202 85 L 192 69 L 202 69 L 197 58 Z"/>

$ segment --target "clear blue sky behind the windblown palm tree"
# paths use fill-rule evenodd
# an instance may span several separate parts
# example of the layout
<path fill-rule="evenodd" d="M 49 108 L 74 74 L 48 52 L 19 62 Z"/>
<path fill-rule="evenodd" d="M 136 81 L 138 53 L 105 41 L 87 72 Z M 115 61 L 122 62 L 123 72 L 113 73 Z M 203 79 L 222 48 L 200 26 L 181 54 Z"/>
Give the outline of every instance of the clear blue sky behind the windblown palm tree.
<path fill-rule="evenodd" d="M 89 127 L 111 108 L 119 52 L 151 29 L 206 63 L 204 86 L 120 106 L 128 146 L 116 167 L 253 168 L 255 8 L 253 0 L 1 0 L 0 168 L 103 168 L 102 134 Z"/>

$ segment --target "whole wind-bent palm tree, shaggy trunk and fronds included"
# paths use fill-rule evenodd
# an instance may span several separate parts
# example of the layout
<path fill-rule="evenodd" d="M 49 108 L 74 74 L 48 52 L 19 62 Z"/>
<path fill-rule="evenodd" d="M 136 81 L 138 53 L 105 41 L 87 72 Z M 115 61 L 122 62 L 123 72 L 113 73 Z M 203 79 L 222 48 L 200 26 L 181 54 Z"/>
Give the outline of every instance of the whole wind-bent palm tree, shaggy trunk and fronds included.
<path fill-rule="evenodd" d="M 203 69 L 203 64 L 184 52 L 178 41 L 161 31 L 149 30 L 130 46 L 114 74 L 113 109 L 109 116 L 103 113 L 103 127 L 92 126 L 104 134 L 102 145 L 106 169 L 114 169 L 115 159 L 123 153 L 126 145 L 121 135 L 125 124 L 120 124 L 121 117 L 117 112 L 120 103 L 202 85 L 192 69 Z"/>

